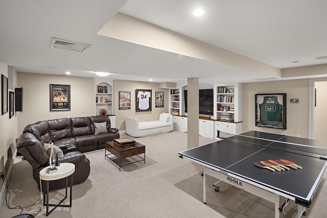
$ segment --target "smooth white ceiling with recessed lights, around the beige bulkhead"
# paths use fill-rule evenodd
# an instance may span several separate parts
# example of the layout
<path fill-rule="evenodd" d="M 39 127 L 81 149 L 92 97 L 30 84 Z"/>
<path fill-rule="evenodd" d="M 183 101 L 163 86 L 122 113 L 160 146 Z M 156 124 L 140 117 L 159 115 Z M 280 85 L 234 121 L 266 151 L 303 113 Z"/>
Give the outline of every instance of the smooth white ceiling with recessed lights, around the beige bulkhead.
<path fill-rule="evenodd" d="M 204 9 L 194 17 L 196 7 Z M 278 68 L 326 64 L 327 0 L 0 0 L 0 61 L 21 72 L 112 79 L 206 83 L 268 78 L 97 33 L 121 12 Z M 84 53 L 50 49 L 51 37 L 87 44 Z M 292 61 L 299 61 L 292 63 Z M 327 72 L 326 72 L 327 74 Z"/>

